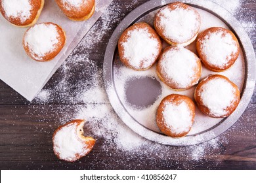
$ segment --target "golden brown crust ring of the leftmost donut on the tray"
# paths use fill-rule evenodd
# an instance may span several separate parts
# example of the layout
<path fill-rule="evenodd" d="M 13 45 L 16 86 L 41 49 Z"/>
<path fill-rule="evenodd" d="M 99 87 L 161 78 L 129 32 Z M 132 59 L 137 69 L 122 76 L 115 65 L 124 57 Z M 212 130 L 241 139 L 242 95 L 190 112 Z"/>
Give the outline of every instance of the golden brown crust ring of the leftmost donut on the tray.
<path fill-rule="evenodd" d="M 135 29 L 148 29 L 148 32 L 150 33 L 151 37 L 153 39 L 156 39 L 158 41 L 158 56 L 156 57 L 156 59 L 154 61 L 152 61 L 152 63 L 150 64 L 149 67 L 147 68 L 143 68 L 140 67 L 139 69 L 134 67 L 130 62 L 129 59 L 124 57 L 124 48 L 122 46 L 122 42 L 126 42 L 127 39 L 129 38 L 128 36 L 128 32 L 129 31 L 133 31 Z M 154 65 L 154 63 L 156 63 L 156 60 L 158 59 L 158 57 L 160 56 L 161 53 L 161 39 L 158 36 L 158 34 L 156 33 L 156 31 L 148 24 L 146 24 L 145 22 L 139 22 L 137 24 L 131 25 L 131 27 L 128 27 L 127 29 L 125 29 L 125 31 L 123 31 L 123 33 L 121 34 L 119 40 L 118 40 L 118 52 L 119 52 L 119 58 L 120 60 L 129 68 L 137 70 L 137 71 L 144 71 L 146 69 L 149 69 L 150 67 L 152 67 L 152 65 Z"/>

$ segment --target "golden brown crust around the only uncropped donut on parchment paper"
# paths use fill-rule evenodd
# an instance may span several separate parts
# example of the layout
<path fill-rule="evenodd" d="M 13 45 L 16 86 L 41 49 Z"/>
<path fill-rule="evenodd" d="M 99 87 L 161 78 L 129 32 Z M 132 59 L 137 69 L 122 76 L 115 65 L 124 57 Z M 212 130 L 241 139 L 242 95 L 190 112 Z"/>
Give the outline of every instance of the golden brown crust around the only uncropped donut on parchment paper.
<path fill-rule="evenodd" d="M 57 25 L 57 24 L 54 24 L 54 23 L 51 23 L 51 22 L 46 22 L 46 23 L 41 23 L 41 24 L 45 24 L 45 25 L 49 25 L 49 24 L 53 24 L 56 26 L 56 29 L 57 29 L 57 32 L 58 32 L 58 44 L 56 44 L 54 50 L 52 50 L 52 52 L 49 52 L 48 54 L 46 54 L 45 56 L 43 57 L 36 57 L 35 58 L 35 54 L 33 54 L 31 51 L 30 51 L 30 48 L 28 46 L 28 44 L 26 45 L 25 44 L 25 37 L 26 37 L 26 33 L 33 27 L 30 27 L 30 29 L 28 29 L 25 34 L 24 34 L 24 37 L 23 37 L 23 47 L 24 47 L 24 50 L 25 52 L 28 54 L 28 56 L 30 56 L 30 58 L 34 59 L 35 61 L 50 61 L 51 59 L 53 59 L 55 56 L 58 55 L 58 53 L 62 50 L 62 48 L 64 47 L 65 45 L 65 42 L 66 42 L 66 35 L 65 35 L 65 32 L 64 30 L 62 29 L 62 27 L 60 27 L 60 25 Z M 37 24 L 39 25 L 39 24 Z"/>

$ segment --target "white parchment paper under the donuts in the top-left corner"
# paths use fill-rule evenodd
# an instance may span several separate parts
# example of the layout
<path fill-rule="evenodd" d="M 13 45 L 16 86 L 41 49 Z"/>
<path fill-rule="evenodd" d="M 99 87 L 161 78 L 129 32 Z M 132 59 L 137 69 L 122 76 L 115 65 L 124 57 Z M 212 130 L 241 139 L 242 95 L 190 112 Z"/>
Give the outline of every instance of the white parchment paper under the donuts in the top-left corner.
<path fill-rule="evenodd" d="M 112 1 L 96 0 L 95 13 L 83 22 L 69 20 L 55 1 L 45 1 L 37 23 L 53 22 L 66 32 L 66 45 L 56 58 L 48 62 L 29 58 L 22 46 L 23 35 L 28 27 L 15 27 L 0 14 L 0 79 L 32 101 Z"/>

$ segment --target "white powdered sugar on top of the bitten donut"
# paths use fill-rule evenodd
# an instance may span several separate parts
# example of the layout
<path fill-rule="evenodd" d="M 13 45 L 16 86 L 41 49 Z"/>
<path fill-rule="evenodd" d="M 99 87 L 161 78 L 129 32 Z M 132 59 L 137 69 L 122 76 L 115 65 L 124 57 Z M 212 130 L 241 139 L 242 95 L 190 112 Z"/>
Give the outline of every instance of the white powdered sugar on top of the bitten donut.
<path fill-rule="evenodd" d="M 76 124 L 62 127 L 54 136 L 53 144 L 61 159 L 72 160 L 76 154 L 83 155 L 88 152 L 87 144 L 77 136 Z"/>

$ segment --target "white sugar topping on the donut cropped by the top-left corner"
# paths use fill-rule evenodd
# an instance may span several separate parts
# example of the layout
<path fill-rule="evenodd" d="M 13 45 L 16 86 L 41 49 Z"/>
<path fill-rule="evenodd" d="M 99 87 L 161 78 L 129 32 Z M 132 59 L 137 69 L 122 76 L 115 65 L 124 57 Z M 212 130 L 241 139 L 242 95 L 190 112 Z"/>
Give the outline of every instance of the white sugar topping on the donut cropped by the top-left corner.
<path fill-rule="evenodd" d="M 28 0 L 3 0 L 2 7 L 5 15 L 9 18 L 20 18 L 20 22 L 25 22 L 30 18 L 32 6 Z"/>

